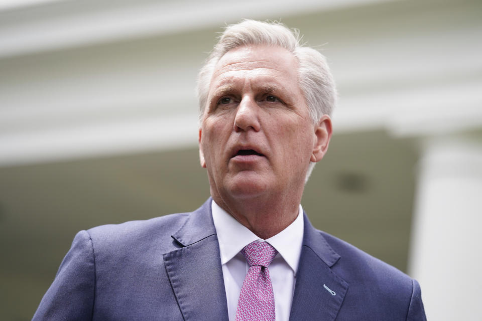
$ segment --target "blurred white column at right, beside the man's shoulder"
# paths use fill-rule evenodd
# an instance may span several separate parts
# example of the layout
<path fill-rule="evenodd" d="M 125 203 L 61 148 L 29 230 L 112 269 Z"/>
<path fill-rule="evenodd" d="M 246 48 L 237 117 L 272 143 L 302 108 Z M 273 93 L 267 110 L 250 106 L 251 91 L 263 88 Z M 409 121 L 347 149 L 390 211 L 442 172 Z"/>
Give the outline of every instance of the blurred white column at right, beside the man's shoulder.
<path fill-rule="evenodd" d="M 426 141 L 409 273 L 429 320 L 482 318 L 482 139 Z"/>

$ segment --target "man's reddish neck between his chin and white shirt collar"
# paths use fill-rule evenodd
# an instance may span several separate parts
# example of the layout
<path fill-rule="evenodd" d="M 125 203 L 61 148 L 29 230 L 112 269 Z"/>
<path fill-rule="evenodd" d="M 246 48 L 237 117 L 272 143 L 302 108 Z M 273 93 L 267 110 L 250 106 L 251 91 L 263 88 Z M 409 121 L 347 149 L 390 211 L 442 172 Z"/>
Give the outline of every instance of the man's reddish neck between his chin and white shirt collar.
<path fill-rule="evenodd" d="M 298 216 L 301 197 L 230 199 L 214 196 L 219 207 L 262 239 L 287 228 Z"/>

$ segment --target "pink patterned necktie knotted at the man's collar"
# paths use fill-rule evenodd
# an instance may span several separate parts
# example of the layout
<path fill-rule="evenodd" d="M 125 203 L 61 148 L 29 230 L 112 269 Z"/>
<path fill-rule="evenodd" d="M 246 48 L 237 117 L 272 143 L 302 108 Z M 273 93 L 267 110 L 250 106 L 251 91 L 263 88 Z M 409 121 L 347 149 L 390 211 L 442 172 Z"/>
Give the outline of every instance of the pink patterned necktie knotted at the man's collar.
<path fill-rule="evenodd" d="M 250 268 L 237 301 L 236 321 L 274 321 L 275 296 L 268 265 L 278 252 L 266 242 L 254 241 L 241 253 Z"/>

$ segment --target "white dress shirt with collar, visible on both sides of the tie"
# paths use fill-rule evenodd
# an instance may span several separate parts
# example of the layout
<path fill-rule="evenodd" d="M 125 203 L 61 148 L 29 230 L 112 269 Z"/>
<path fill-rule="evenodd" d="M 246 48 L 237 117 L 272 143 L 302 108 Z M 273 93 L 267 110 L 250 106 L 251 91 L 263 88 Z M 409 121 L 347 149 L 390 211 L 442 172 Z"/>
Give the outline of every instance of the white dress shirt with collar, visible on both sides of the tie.
<path fill-rule="evenodd" d="M 278 251 L 269 266 L 275 296 L 276 321 L 288 321 L 303 243 L 303 209 L 301 205 L 293 223 L 266 240 L 260 239 L 214 201 L 212 201 L 211 208 L 219 241 L 229 321 L 236 319 L 239 293 L 249 269 L 248 263 L 240 251 L 256 240 L 266 241 Z"/>

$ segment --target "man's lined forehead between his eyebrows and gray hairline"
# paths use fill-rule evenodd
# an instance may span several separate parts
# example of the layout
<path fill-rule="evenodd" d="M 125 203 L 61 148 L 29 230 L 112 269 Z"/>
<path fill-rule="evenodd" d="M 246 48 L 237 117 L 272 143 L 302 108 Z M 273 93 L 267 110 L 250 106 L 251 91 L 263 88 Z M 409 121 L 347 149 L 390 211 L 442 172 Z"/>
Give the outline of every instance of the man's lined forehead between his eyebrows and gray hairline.
<path fill-rule="evenodd" d="M 243 46 L 228 51 L 216 64 L 211 89 L 245 78 L 297 84 L 298 62 L 288 50 L 271 46 Z"/>

